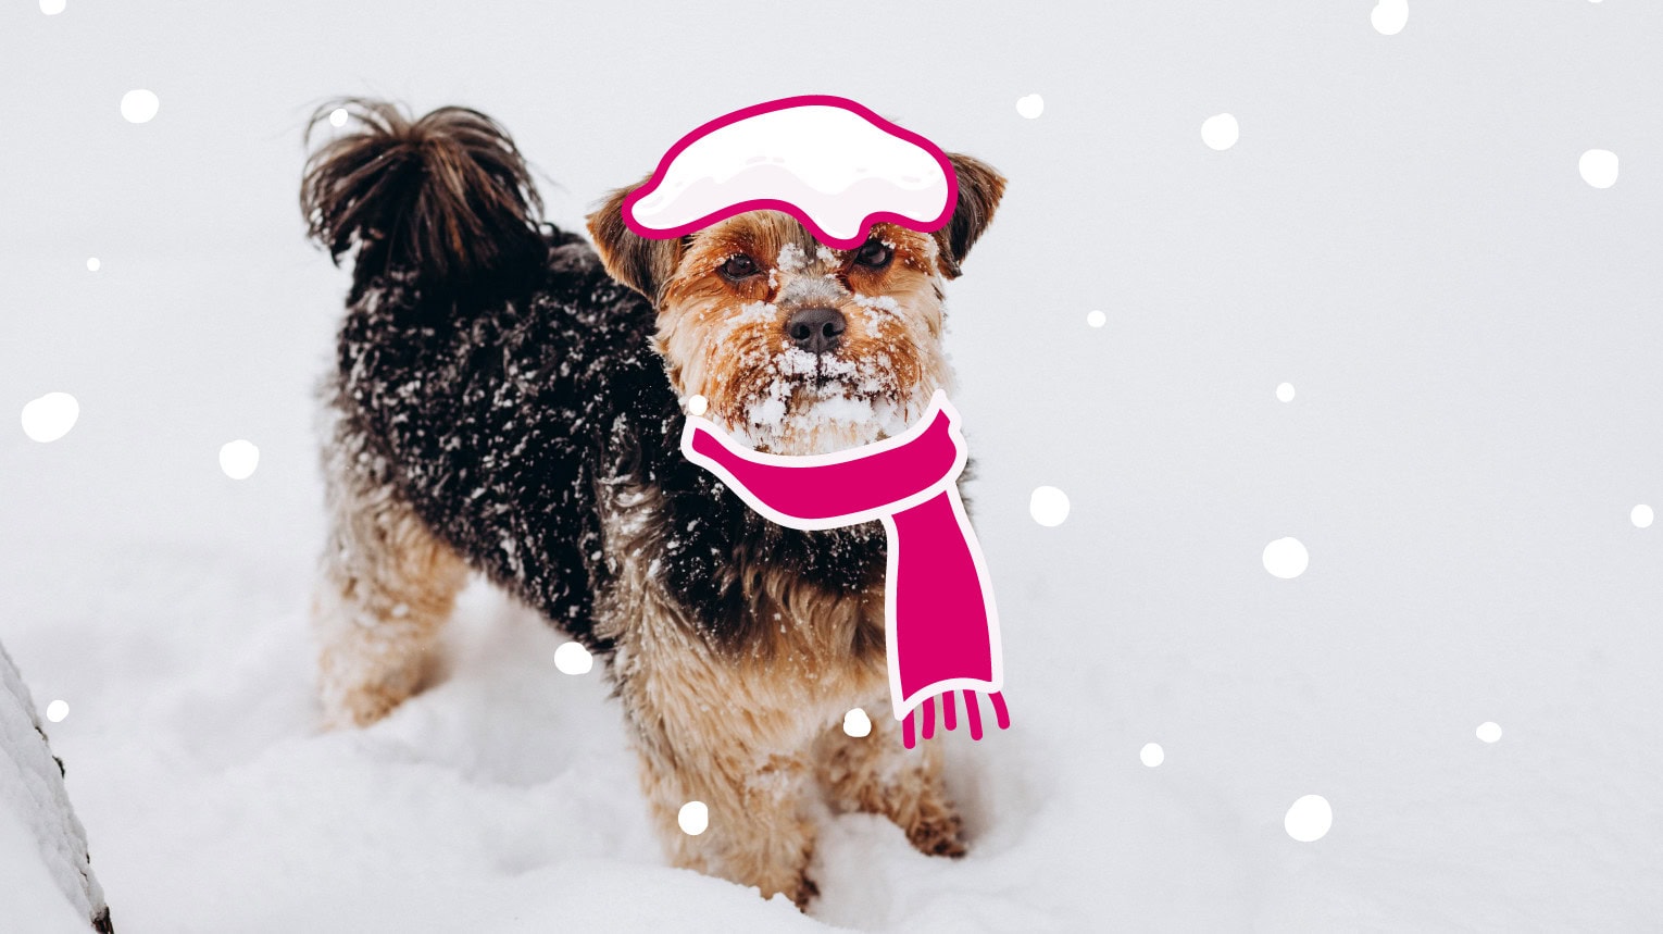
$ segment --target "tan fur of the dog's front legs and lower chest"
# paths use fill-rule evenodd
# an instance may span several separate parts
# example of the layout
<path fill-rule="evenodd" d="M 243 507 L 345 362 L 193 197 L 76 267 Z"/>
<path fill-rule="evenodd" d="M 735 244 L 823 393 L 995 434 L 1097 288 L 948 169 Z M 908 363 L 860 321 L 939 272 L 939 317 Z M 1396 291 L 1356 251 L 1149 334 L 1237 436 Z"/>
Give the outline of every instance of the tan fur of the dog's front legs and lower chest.
<path fill-rule="evenodd" d="M 607 551 L 622 556 L 624 599 L 599 621 L 619 641 L 619 694 L 672 862 L 805 904 L 817 891 L 808 804 L 825 791 L 843 809 L 890 816 L 923 852 L 963 852 L 938 753 L 905 749 L 881 703 L 871 704 L 881 724 L 871 736 L 840 728 L 848 709 L 888 696 L 881 588 L 850 599 L 762 571 L 748 596 L 763 608 L 765 634 L 720 654 L 634 558 L 659 506 L 640 489 L 609 486 Z M 710 811 L 703 834 L 677 824 L 688 801 Z"/>

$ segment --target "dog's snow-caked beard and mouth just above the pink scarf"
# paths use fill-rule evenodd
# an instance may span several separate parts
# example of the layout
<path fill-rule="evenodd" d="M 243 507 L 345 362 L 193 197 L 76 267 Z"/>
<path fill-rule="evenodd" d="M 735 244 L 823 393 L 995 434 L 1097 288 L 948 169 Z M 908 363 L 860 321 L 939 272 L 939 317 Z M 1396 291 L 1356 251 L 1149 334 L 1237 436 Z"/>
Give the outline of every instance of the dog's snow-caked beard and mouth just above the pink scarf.
<path fill-rule="evenodd" d="M 881 441 L 923 415 L 930 393 L 901 386 L 890 361 L 815 355 L 783 346 L 763 365 L 762 391 L 728 430 L 777 455 L 823 455 Z"/>

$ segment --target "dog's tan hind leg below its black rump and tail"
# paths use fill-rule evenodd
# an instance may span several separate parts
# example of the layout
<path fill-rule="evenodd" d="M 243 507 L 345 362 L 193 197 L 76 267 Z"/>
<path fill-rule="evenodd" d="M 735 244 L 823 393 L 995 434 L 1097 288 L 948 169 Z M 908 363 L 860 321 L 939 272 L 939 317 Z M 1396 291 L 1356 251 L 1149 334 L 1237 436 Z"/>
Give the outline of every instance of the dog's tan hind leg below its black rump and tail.
<path fill-rule="evenodd" d="M 311 608 L 318 694 L 328 726 L 368 726 L 421 689 L 467 566 L 378 476 L 363 436 L 344 420 L 331 435 L 329 543 Z"/>

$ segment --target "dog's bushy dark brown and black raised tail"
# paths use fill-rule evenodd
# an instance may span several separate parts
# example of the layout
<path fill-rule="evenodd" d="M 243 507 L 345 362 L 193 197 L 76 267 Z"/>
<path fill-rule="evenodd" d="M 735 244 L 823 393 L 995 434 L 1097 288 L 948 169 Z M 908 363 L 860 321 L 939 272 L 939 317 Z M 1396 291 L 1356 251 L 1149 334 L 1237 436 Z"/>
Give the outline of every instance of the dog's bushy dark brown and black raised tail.
<path fill-rule="evenodd" d="M 308 147 L 323 123 L 341 130 L 306 160 L 301 211 L 336 265 L 358 246 L 354 290 L 394 270 L 461 285 L 545 255 L 542 198 L 496 120 L 464 107 L 411 120 L 392 103 L 343 98 L 313 113 Z"/>

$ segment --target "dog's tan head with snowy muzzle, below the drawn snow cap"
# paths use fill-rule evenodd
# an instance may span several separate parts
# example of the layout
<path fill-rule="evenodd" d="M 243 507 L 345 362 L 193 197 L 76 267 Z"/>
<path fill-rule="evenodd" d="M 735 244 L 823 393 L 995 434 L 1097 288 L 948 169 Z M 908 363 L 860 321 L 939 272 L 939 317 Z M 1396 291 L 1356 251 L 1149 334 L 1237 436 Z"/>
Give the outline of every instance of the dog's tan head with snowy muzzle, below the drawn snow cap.
<path fill-rule="evenodd" d="M 943 280 L 993 220 L 1004 178 L 953 155 L 946 226 L 873 225 L 833 250 L 782 211 L 748 211 L 682 238 L 624 223 L 620 188 L 589 216 L 612 278 L 652 300 L 655 345 L 677 395 L 752 446 L 813 455 L 898 435 L 951 388 Z"/>

